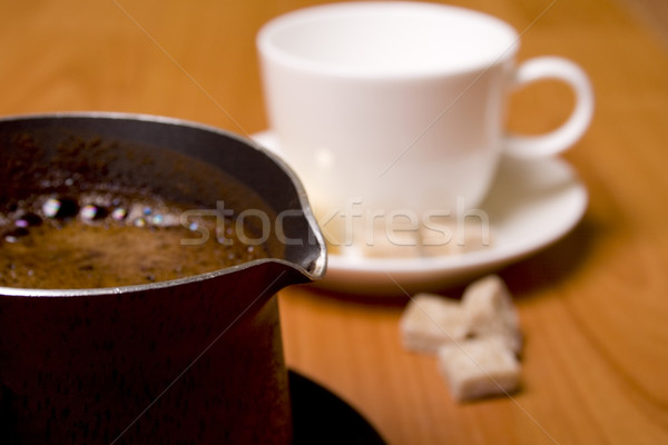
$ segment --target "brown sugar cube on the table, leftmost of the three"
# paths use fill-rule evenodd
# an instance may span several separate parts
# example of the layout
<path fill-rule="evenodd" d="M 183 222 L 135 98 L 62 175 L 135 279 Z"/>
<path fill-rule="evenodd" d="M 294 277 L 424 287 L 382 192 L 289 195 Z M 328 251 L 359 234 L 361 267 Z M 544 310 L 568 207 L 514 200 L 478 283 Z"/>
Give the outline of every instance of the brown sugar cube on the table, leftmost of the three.
<path fill-rule="evenodd" d="M 432 294 L 418 294 L 400 320 L 405 348 L 435 353 L 445 343 L 466 336 L 462 308 L 458 301 Z"/>

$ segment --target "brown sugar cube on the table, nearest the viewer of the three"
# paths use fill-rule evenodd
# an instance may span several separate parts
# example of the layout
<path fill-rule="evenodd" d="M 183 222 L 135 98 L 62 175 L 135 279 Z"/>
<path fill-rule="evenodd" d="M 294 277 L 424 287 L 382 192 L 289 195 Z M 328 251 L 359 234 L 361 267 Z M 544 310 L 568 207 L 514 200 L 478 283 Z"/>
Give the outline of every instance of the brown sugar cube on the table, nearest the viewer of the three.
<path fill-rule="evenodd" d="M 510 394 L 520 385 L 520 364 L 500 337 L 442 345 L 439 367 L 458 402 Z"/>

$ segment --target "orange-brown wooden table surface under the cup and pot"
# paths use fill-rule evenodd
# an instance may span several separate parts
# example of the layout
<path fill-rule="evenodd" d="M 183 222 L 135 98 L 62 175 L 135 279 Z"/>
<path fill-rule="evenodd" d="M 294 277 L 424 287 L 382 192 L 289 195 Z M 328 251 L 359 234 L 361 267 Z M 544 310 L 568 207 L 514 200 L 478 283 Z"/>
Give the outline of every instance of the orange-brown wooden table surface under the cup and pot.
<path fill-rule="evenodd" d="M 651 24 L 660 20 L 613 0 L 455 2 L 525 31 L 520 60 L 576 60 L 597 92 L 590 130 L 564 156 L 590 191 L 583 220 L 500 271 L 527 336 L 522 390 L 454 403 L 434 358 L 401 347 L 406 298 L 283 291 L 287 362 L 392 445 L 668 443 L 668 42 Z M 3 1 L 0 115 L 131 111 L 252 135 L 266 126 L 254 36 L 311 3 Z M 513 97 L 509 125 L 552 128 L 570 100 L 561 86 L 531 87 Z"/>

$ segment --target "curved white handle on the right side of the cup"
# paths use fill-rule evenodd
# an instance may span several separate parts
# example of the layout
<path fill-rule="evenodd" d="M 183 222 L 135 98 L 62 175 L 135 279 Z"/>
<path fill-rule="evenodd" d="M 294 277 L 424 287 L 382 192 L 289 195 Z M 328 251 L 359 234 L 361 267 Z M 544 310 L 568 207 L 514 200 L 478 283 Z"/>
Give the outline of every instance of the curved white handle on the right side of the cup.
<path fill-rule="evenodd" d="M 553 156 L 570 148 L 584 134 L 593 115 L 593 89 L 584 71 L 560 57 L 538 57 L 523 62 L 515 71 L 513 87 L 541 79 L 568 83 L 576 93 L 576 106 L 568 120 L 556 130 L 541 136 L 505 136 L 504 152 L 515 158 Z"/>

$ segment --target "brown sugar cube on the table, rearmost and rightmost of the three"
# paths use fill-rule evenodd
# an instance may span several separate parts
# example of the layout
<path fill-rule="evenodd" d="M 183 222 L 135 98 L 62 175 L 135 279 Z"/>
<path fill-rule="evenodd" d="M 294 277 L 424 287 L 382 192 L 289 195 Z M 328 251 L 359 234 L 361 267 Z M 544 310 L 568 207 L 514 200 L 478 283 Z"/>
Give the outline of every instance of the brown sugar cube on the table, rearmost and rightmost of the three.
<path fill-rule="evenodd" d="M 511 350 L 520 354 L 520 322 L 508 287 L 497 275 L 481 278 L 466 287 L 462 309 L 469 333 L 474 337 L 499 336 Z"/>

